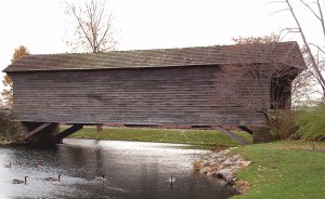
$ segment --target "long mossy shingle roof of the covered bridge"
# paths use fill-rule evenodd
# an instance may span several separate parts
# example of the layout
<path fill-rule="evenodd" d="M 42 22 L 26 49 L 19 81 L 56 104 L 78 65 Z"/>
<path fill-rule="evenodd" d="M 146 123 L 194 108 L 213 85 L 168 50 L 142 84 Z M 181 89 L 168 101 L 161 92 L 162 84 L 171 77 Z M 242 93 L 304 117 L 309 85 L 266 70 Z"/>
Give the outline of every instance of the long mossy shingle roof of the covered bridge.
<path fill-rule="evenodd" d="M 270 62 L 301 68 L 306 66 L 297 42 L 277 42 L 106 53 L 27 55 L 3 71 L 177 67 Z"/>

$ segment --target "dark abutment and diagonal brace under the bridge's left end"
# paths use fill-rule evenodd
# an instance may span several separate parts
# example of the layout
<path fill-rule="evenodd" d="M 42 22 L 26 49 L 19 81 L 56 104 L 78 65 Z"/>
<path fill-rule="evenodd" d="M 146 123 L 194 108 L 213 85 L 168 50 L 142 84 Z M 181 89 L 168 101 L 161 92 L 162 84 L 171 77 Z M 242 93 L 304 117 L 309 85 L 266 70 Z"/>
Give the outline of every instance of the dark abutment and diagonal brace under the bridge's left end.
<path fill-rule="evenodd" d="M 60 132 L 58 123 L 50 122 L 28 122 L 23 121 L 22 124 L 25 127 L 27 134 L 25 141 L 28 143 L 39 145 L 53 145 L 58 144 L 60 141 L 55 137 Z"/>

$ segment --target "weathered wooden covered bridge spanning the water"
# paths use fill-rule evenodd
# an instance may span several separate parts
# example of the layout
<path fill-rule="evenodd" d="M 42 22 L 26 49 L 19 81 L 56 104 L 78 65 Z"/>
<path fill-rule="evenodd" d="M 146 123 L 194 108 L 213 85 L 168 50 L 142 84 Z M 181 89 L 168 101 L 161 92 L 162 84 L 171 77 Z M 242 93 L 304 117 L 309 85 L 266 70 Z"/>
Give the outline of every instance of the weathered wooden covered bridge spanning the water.
<path fill-rule="evenodd" d="M 3 71 L 30 142 L 86 124 L 266 125 L 306 67 L 296 42 L 27 55 Z M 58 132 L 58 123 L 72 128 Z"/>

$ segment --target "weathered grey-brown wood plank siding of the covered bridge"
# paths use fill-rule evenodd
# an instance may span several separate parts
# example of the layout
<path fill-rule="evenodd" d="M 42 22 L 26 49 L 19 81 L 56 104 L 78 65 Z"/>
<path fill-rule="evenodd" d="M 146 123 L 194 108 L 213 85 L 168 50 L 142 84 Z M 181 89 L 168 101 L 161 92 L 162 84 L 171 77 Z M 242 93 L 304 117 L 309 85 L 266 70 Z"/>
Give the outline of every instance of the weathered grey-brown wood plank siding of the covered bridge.
<path fill-rule="evenodd" d="M 67 123 L 252 124 L 261 98 L 238 66 L 12 72 L 22 121 Z M 265 77 L 263 101 L 269 103 Z M 248 100 L 248 101 L 247 101 Z"/>

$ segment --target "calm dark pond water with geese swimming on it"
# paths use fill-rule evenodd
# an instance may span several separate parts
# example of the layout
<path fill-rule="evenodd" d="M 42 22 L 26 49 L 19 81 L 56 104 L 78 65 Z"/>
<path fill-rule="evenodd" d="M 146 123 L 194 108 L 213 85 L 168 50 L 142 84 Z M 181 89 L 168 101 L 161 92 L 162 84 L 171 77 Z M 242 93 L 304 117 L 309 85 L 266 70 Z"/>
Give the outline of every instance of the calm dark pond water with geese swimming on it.
<path fill-rule="evenodd" d="M 190 145 L 64 140 L 52 149 L 0 147 L 0 198 L 229 198 L 223 182 L 193 172 L 209 152 Z M 12 168 L 2 164 L 11 161 Z M 28 167 L 22 163 L 29 162 Z M 44 164 L 38 169 L 36 165 Z M 62 174 L 61 182 L 47 182 Z M 95 182 L 105 174 L 106 182 Z M 171 186 L 170 175 L 176 177 Z M 12 184 L 28 175 L 27 185 Z"/>

